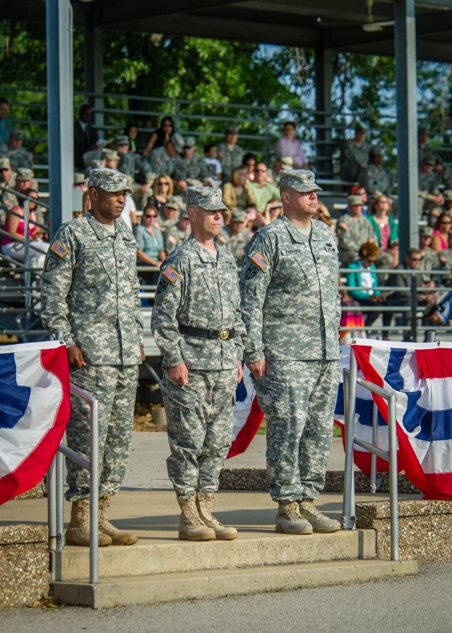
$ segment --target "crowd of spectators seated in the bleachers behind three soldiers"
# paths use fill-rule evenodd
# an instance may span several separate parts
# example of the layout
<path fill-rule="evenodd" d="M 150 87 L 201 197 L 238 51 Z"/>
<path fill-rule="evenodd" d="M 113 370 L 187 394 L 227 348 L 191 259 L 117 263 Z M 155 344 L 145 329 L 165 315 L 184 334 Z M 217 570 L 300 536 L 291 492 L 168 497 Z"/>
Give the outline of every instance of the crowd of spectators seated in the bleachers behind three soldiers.
<path fill-rule="evenodd" d="M 14 191 L 38 191 L 32 154 L 23 147 L 23 131 L 14 129 L 8 120 L 9 108 L 8 101 L 0 98 L 0 222 L 4 230 L 16 226 L 16 220 L 20 225 L 20 211 L 16 213 L 20 201 Z M 133 194 L 126 196 L 121 217 L 141 244 L 137 262 L 141 266 L 160 266 L 166 254 L 188 237 L 185 192 L 191 185 L 222 188 L 228 210 L 224 213 L 218 242 L 224 244 L 241 265 L 254 232 L 282 213 L 278 189 L 280 171 L 309 167 L 297 139 L 297 126 L 291 121 L 283 124 L 283 134 L 275 143 L 271 165 L 246 151 L 235 125 L 226 127 L 218 146 L 208 143 L 202 150 L 198 150 L 195 136 L 179 134 L 169 116 L 163 117 L 145 139 L 140 138 L 138 131 L 132 122 L 124 127 L 123 134 L 101 138 L 93 126 L 93 110 L 88 104 L 82 105 L 74 125 L 74 187 L 83 192 L 80 213 L 84 213 L 89 209 L 86 182 L 90 169 L 109 167 L 127 175 Z M 419 160 L 420 250 L 414 257 L 415 260 L 420 258 L 420 268 L 425 271 L 419 278 L 420 283 L 432 288 L 435 283 L 448 280 L 452 285 L 449 236 L 452 173 L 429 146 L 425 128 L 419 130 Z M 410 267 L 414 260 L 410 253 L 401 257 L 399 254 L 397 199 L 393 192 L 395 174 L 385 165 L 383 148 L 367 142 L 367 130 L 360 123 L 355 126 L 354 138 L 343 142 L 340 178 L 344 187 L 350 187 L 347 207 L 333 220 L 331 211 L 319 200 L 316 218 L 331 227 L 338 244 L 340 265 L 352 271 L 347 275 L 349 285 L 364 284 L 364 288 L 357 291 L 361 292 L 360 296 L 350 291 L 348 299 L 357 300 L 364 307 L 389 305 L 400 297 L 394 292 L 372 290 L 374 281 L 377 280 L 380 288 L 385 283 L 393 285 L 394 277 L 388 278 L 385 271 Z M 7 218 L 8 208 L 13 214 Z M 39 206 L 33 213 L 37 223 L 44 222 Z M 12 221 L 11 217 L 16 219 Z M 42 230 L 35 231 L 33 239 L 36 237 L 47 244 L 48 236 Z M 439 269 L 444 270 L 441 277 L 429 274 Z M 150 283 L 155 275 L 143 274 L 143 280 Z M 376 310 L 369 312 L 366 324 L 374 323 L 378 314 Z M 383 324 L 389 319 L 383 312 Z"/>

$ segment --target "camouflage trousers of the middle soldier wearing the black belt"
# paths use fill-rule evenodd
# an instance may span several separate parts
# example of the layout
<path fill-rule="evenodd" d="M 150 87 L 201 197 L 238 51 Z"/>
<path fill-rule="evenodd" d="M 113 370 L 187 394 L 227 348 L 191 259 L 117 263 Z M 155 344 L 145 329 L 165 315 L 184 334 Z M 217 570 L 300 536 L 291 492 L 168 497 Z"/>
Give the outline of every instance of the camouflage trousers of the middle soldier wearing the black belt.
<path fill-rule="evenodd" d="M 183 387 L 165 372 L 160 388 L 171 449 L 167 468 L 177 495 L 218 490 L 231 445 L 236 386 L 237 369 L 189 370 L 189 382 Z"/>

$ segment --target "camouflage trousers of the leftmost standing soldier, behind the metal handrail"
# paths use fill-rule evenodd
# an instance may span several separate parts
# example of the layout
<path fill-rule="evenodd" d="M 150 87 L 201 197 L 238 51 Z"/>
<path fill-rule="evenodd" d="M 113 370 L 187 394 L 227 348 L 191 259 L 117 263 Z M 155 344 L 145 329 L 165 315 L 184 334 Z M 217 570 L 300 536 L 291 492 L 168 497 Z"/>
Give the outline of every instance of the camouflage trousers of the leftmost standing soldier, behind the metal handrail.
<path fill-rule="evenodd" d="M 91 365 L 71 369 L 71 382 L 97 398 L 99 414 L 99 496 L 121 487 L 132 439 L 133 408 L 138 365 Z M 90 459 L 90 407 L 71 396 L 71 418 L 66 429 L 69 448 Z M 66 459 L 68 501 L 90 496 L 90 475 Z"/>

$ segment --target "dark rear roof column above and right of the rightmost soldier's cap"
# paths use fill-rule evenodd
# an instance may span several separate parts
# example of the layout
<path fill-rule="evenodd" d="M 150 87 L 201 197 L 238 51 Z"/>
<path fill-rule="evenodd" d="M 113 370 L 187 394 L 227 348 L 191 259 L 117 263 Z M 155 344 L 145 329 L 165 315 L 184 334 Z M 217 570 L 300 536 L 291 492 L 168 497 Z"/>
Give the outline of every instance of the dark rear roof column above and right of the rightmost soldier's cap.
<path fill-rule="evenodd" d="M 333 178 L 333 141 L 331 127 L 331 51 L 316 51 L 316 176 Z"/>

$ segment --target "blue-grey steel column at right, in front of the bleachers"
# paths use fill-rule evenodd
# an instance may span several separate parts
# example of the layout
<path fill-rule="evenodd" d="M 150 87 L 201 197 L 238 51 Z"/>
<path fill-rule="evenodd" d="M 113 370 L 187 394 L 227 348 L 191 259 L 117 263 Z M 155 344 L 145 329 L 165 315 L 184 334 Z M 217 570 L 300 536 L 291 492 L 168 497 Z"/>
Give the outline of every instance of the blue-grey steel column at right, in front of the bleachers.
<path fill-rule="evenodd" d="M 397 178 L 400 261 L 419 245 L 415 0 L 394 3 L 397 85 Z"/>

